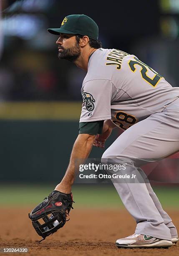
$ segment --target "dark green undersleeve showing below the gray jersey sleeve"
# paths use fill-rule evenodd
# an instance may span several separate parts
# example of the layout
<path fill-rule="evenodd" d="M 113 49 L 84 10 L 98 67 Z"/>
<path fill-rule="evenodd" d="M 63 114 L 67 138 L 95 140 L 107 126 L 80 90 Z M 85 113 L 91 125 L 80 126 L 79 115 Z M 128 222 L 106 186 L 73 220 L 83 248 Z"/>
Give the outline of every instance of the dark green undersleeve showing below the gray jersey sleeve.
<path fill-rule="evenodd" d="M 79 134 L 86 133 L 90 135 L 101 134 L 103 130 L 104 120 L 96 122 L 79 123 Z"/>

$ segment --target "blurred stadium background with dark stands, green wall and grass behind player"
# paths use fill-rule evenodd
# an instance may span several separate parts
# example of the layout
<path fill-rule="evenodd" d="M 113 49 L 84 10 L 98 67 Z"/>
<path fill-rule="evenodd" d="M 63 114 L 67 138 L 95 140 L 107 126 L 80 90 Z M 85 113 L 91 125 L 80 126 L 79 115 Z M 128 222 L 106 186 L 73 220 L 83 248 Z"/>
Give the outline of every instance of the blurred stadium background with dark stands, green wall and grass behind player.
<path fill-rule="evenodd" d="M 179 0 L 110 4 L 0 0 L 0 4 L 0 192 L 4 194 L 0 202 L 5 205 L 13 195 L 16 204 L 35 204 L 66 171 L 78 135 L 81 84 L 86 75 L 74 64 L 58 60 L 58 37 L 47 28 L 60 27 L 70 14 L 89 15 L 99 26 L 103 48 L 135 54 L 172 86 L 179 86 Z M 118 131 L 107 146 L 116 136 Z M 102 153 L 93 148 L 91 157 L 100 158 Z M 170 177 L 169 167 L 167 175 Z M 173 188 L 174 184 L 160 185 L 157 195 L 161 202 L 178 207 L 178 184 Z M 105 195 L 111 207 L 119 202 L 111 185 L 83 186 L 74 188 L 81 204 L 89 200 L 95 205 L 96 195 L 100 200 Z"/>

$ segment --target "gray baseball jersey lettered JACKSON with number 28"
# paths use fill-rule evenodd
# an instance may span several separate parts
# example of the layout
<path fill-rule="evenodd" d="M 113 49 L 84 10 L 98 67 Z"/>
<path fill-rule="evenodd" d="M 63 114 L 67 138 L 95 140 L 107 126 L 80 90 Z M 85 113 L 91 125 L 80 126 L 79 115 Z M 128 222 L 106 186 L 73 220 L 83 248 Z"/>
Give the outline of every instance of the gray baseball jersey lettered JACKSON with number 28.
<path fill-rule="evenodd" d="M 135 55 L 97 49 L 88 62 L 81 89 L 81 122 L 111 119 L 126 130 L 179 97 L 164 77 Z"/>

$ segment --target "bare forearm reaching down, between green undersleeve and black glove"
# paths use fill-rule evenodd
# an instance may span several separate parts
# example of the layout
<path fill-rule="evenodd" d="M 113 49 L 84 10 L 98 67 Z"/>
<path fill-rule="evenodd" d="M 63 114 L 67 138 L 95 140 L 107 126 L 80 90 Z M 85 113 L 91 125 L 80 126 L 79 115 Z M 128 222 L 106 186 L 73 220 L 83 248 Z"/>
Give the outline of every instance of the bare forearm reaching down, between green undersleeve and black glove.
<path fill-rule="evenodd" d="M 63 177 L 60 184 L 55 187 L 55 190 L 63 193 L 70 193 L 71 186 L 75 179 L 75 162 L 76 159 L 86 159 L 93 146 L 95 135 L 79 134 L 71 152 L 70 163 L 66 170 L 66 174 Z"/>

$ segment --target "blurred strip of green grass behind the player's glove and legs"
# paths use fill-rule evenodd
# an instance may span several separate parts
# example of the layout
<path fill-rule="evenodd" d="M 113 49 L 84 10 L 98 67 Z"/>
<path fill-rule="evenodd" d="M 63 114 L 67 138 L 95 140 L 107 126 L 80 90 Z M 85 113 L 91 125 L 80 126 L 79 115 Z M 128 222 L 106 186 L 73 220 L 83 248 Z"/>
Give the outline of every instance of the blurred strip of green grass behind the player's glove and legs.
<path fill-rule="evenodd" d="M 0 185 L 0 205 L 37 205 L 54 189 L 53 185 Z M 179 209 L 179 187 L 154 187 L 163 207 Z M 124 207 L 113 185 L 74 185 L 76 207 Z"/>

